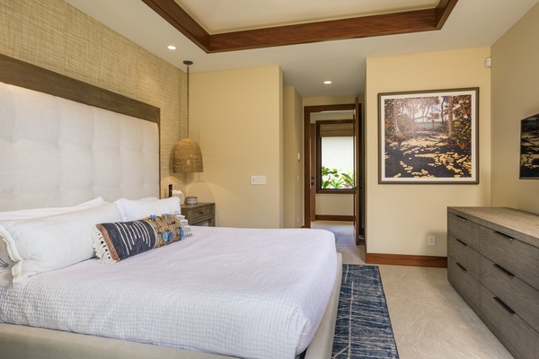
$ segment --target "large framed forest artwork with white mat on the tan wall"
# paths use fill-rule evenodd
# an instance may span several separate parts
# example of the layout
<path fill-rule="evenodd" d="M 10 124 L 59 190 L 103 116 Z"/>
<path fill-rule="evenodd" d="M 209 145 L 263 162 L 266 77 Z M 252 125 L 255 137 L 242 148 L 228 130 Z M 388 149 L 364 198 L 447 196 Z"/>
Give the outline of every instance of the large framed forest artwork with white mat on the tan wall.
<path fill-rule="evenodd" d="M 378 94 L 379 183 L 479 183 L 479 88 Z"/>

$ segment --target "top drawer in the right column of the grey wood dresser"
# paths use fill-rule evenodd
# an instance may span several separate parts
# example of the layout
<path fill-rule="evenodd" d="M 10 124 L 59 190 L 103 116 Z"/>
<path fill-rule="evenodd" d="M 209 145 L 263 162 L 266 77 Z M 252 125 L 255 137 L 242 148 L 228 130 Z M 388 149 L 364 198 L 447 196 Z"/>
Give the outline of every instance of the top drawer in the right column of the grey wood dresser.
<path fill-rule="evenodd" d="M 528 285 L 539 289 L 539 248 L 492 230 L 482 236 L 481 253 Z"/>

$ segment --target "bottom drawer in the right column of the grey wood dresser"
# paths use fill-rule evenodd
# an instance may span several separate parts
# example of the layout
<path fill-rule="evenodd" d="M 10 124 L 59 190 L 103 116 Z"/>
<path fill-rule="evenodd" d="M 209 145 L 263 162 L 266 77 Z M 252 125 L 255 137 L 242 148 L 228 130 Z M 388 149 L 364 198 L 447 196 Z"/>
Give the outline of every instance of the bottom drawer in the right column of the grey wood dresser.
<path fill-rule="evenodd" d="M 511 308 L 481 286 L 482 316 L 499 333 L 499 339 L 517 358 L 539 358 L 539 334 Z"/>

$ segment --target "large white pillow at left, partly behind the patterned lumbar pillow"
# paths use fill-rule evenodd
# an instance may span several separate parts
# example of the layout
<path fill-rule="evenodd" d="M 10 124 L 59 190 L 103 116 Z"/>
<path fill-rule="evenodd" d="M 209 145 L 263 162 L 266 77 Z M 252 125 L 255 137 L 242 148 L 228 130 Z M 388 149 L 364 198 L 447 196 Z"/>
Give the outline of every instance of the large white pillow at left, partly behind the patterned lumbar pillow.
<path fill-rule="evenodd" d="M 120 219 L 118 207 L 104 203 L 62 215 L 26 221 L 0 221 L 0 234 L 7 243 L 9 257 L 15 262 L 13 284 L 93 258 L 90 237 L 93 226 Z"/>

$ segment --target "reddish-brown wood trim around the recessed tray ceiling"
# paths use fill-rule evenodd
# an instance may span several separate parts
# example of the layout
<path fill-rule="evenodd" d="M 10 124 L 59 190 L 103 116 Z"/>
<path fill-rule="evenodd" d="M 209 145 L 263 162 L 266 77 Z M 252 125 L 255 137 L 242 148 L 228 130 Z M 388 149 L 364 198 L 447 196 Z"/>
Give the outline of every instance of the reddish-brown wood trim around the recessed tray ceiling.
<path fill-rule="evenodd" d="M 458 0 L 425 10 L 208 34 L 174 0 L 142 0 L 207 53 L 440 30 Z"/>

